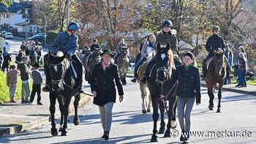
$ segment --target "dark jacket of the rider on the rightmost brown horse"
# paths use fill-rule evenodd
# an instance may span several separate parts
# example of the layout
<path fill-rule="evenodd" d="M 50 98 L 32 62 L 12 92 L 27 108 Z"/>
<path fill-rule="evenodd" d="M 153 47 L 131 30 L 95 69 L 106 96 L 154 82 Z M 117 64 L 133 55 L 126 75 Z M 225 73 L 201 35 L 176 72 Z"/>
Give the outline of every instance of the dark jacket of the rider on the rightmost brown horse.
<path fill-rule="evenodd" d="M 215 48 L 222 48 L 222 50 L 225 50 L 224 41 L 222 37 L 220 37 L 217 34 L 213 34 L 211 37 L 207 39 L 207 42 L 206 42 L 206 50 L 209 53 L 213 53 L 213 50 Z"/>

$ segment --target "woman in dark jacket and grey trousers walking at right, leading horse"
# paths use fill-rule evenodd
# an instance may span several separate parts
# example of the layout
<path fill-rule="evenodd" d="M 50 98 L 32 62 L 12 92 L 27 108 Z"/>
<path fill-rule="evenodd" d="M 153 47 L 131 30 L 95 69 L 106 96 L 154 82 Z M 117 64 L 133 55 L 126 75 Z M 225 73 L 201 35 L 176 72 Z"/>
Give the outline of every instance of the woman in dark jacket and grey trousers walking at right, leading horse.
<path fill-rule="evenodd" d="M 199 69 L 193 66 L 193 61 L 194 55 L 192 53 L 185 53 L 183 58 L 184 64 L 176 67 L 171 80 L 172 83 L 176 83 L 178 80 L 178 121 L 182 132 L 180 140 L 183 142 L 189 140 L 190 115 L 194 102 L 196 100 L 196 104 L 200 105 L 201 99 Z M 161 98 L 163 97 L 161 96 Z"/>

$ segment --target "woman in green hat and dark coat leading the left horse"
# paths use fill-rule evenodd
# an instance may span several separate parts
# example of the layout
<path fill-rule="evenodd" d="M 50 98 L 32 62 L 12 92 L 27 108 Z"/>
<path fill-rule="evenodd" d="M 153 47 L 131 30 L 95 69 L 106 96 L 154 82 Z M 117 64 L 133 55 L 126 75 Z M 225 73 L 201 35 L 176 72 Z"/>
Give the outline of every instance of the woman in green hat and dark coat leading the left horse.
<path fill-rule="evenodd" d="M 102 121 L 104 134 L 102 138 L 109 139 L 110 127 L 112 122 L 113 104 L 116 102 L 116 88 L 118 88 L 119 102 L 124 99 L 124 91 L 118 76 L 116 64 L 111 58 L 113 54 L 110 50 L 104 50 L 101 54 L 102 61 L 94 66 L 91 75 L 91 91 L 94 94 L 94 105 L 99 106 L 99 115 Z"/>

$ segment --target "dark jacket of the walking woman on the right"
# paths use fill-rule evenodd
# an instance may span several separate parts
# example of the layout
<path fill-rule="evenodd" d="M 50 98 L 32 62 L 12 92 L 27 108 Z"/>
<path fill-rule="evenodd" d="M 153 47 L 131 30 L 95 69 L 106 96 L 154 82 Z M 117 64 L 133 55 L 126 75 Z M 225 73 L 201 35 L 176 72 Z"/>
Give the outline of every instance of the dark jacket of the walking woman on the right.
<path fill-rule="evenodd" d="M 171 79 L 174 84 L 178 80 L 177 95 L 183 98 L 196 96 L 196 102 L 200 103 L 200 77 L 197 67 L 189 66 L 186 70 L 184 65 L 176 67 Z M 173 84 L 171 86 L 173 86 Z"/>

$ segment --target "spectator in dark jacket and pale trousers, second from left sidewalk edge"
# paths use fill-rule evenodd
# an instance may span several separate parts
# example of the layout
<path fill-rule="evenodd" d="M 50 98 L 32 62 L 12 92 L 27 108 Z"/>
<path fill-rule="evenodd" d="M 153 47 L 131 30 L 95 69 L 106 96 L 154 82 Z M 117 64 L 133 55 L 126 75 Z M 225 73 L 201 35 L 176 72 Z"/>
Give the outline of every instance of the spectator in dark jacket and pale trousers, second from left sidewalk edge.
<path fill-rule="evenodd" d="M 18 70 L 20 70 L 20 77 L 22 80 L 21 86 L 21 103 L 28 104 L 29 103 L 29 95 L 30 95 L 30 88 L 29 88 L 29 73 L 31 73 L 27 67 L 29 64 L 28 56 L 22 57 L 22 62 L 18 63 Z"/>

